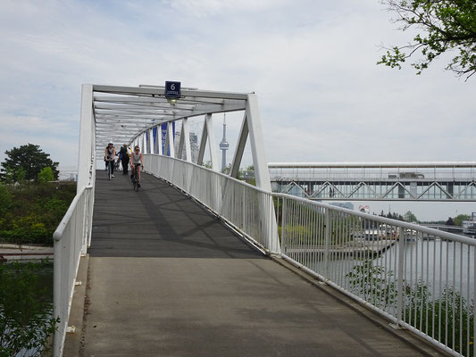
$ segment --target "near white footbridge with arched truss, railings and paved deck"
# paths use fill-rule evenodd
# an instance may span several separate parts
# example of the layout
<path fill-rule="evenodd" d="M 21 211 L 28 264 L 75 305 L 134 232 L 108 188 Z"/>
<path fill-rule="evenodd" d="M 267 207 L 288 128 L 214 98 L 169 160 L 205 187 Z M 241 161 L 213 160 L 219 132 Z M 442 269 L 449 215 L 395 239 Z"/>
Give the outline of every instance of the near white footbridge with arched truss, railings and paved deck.
<path fill-rule="evenodd" d="M 54 233 L 54 355 L 68 348 L 87 257 L 84 320 L 72 333 L 81 355 L 474 355 L 472 239 L 271 193 L 255 95 L 182 96 L 83 87 L 78 195 Z M 213 170 L 214 154 L 205 168 L 213 112 L 238 110 L 231 175 Z M 154 121 L 134 124 L 149 111 Z M 193 115 L 205 121 L 198 162 L 188 135 L 177 155 L 171 145 L 171 123 L 187 134 Z M 154 137 L 163 123 L 164 147 Z M 145 153 L 137 193 L 96 170 L 114 135 Z M 236 179 L 248 138 L 256 187 Z"/>

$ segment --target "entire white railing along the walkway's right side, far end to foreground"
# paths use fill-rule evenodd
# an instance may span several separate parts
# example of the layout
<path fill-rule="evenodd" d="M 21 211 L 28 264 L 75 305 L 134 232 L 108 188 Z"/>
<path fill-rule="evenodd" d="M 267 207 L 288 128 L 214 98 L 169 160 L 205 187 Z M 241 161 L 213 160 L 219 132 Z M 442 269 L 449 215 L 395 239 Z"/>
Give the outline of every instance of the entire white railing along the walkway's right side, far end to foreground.
<path fill-rule="evenodd" d="M 144 158 L 147 171 L 205 204 L 267 253 L 280 253 L 447 353 L 476 356 L 476 240 L 271 194 L 166 156 Z"/>

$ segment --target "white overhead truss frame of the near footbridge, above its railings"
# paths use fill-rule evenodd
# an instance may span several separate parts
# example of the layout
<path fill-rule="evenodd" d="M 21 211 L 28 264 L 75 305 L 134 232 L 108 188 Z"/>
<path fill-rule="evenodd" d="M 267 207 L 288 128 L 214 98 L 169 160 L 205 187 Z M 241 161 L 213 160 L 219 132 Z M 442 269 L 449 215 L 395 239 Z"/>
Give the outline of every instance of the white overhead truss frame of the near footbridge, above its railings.
<path fill-rule="evenodd" d="M 119 145 L 139 145 L 143 153 L 163 154 L 162 145 L 152 138 L 152 130 L 161 130 L 167 124 L 165 153 L 172 157 L 185 157 L 191 162 L 188 119 L 205 117 L 202 142 L 198 161 L 203 164 L 205 147 L 208 144 L 213 170 L 218 171 L 219 146 L 213 132 L 213 114 L 222 112 L 245 112 L 238 145 L 232 159 L 231 176 L 238 176 L 246 140 L 249 137 L 256 186 L 271 191 L 270 176 L 263 146 L 263 132 L 258 112 L 257 97 L 254 93 L 214 92 L 182 88 L 181 97 L 176 103 L 169 102 L 164 95 L 164 87 L 114 87 L 85 84 L 82 87 L 81 129 L 79 138 L 79 185 L 90 185 L 87 171 L 88 163 L 101 158 L 104 147 L 112 140 Z M 173 146 L 173 121 L 181 120 L 183 135 L 177 153 Z M 146 139 L 148 136 L 148 140 Z"/>

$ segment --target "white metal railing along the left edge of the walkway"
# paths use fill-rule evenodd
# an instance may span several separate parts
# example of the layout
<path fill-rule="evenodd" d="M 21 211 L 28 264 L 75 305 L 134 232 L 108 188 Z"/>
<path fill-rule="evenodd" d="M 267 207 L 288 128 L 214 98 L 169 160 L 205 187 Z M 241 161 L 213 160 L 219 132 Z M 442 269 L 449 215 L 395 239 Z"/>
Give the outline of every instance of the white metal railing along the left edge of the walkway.
<path fill-rule="evenodd" d="M 54 356 L 63 355 L 71 300 L 81 253 L 90 243 L 94 189 L 82 187 L 54 231 L 54 317 L 60 321 L 54 333 Z"/>

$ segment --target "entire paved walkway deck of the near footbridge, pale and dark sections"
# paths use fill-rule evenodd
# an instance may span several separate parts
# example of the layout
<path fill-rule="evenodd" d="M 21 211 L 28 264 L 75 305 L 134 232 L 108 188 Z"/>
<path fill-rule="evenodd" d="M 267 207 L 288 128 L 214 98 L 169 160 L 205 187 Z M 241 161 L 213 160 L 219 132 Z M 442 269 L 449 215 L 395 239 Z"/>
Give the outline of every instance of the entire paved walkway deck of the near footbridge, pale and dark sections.
<path fill-rule="evenodd" d="M 85 356 L 417 356 L 144 175 L 96 176 Z M 438 355 L 434 354 L 434 355 Z"/>

